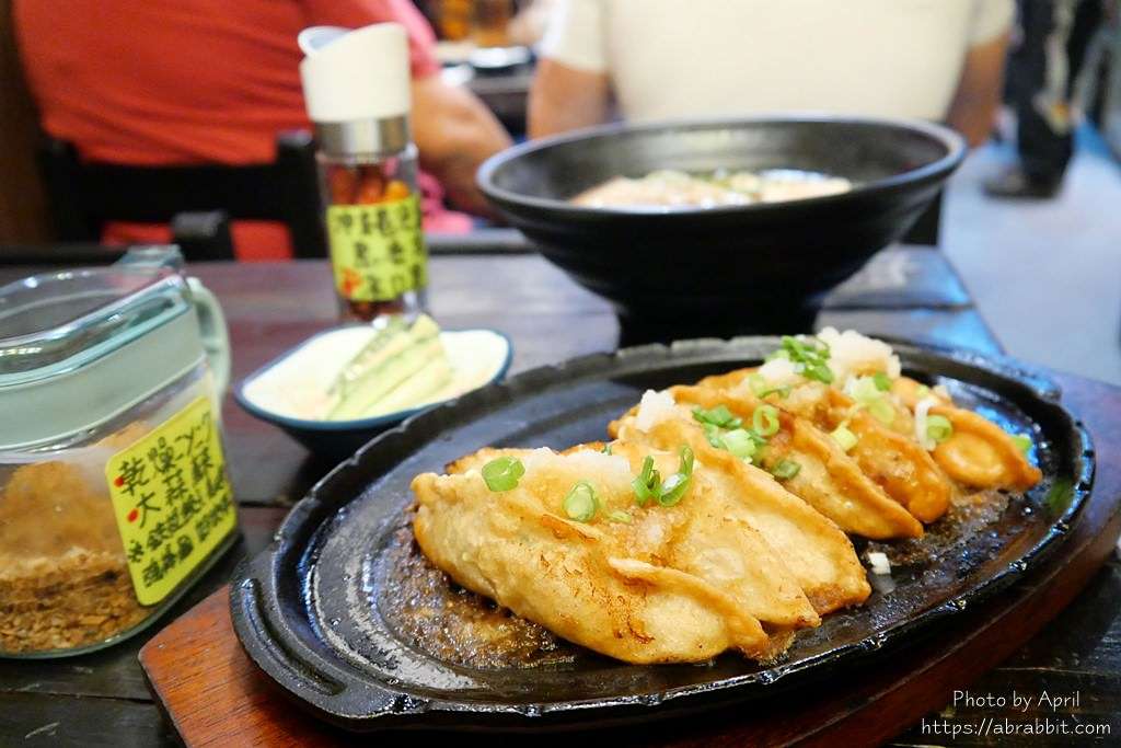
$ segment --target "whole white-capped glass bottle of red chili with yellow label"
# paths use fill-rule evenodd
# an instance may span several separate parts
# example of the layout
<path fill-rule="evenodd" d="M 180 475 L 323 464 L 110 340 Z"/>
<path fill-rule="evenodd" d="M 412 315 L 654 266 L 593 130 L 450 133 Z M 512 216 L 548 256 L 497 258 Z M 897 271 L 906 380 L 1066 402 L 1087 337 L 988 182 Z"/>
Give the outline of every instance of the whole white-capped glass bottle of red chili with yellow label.
<path fill-rule="evenodd" d="M 416 314 L 425 302 L 428 256 L 409 131 L 405 29 L 313 27 L 299 44 L 341 314 L 365 322 Z"/>

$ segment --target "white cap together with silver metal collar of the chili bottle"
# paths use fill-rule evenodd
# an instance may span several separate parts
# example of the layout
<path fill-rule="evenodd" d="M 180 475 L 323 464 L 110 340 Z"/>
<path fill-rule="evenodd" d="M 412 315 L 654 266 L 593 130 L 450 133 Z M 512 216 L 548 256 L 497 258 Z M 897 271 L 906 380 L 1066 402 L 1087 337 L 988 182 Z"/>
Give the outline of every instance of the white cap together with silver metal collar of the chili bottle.
<path fill-rule="evenodd" d="M 409 135 L 409 46 L 399 24 L 356 30 L 313 26 L 299 34 L 307 116 L 332 156 L 396 154 Z"/>

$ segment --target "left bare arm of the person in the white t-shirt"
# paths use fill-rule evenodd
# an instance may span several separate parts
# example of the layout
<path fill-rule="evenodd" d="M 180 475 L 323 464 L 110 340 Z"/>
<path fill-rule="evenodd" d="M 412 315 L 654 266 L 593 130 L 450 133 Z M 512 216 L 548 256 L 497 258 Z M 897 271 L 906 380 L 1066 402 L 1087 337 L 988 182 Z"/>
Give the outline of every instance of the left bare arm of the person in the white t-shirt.
<path fill-rule="evenodd" d="M 610 98 L 605 73 L 543 59 L 529 90 L 529 137 L 540 138 L 605 122 Z"/>

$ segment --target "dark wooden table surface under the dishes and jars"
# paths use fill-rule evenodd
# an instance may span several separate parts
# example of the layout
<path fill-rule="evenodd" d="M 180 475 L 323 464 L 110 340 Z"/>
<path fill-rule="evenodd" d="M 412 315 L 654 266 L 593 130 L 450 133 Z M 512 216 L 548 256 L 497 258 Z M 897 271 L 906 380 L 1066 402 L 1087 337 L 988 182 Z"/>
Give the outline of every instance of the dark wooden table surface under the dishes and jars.
<path fill-rule="evenodd" d="M 324 262 L 198 265 L 189 268 L 217 294 L 233 342 L 234 380 L 305 338 L 335 324 Z M 29 268 L 4 268 L 0 283 Z M 627 331 L 601 299 L 536 256 L 436 257 L 429 306 L 448 329 L 495 327 L 515 345 L 517 372 L 572 355 L 611 350 Z M 939 252 L 883 252 L 826 302 L 818 325 L 998 351 L 999 345 Z M 1040 341 L 1040 344 L 1045 344 Z M 1117 399 L 1112 400 L 1114 405 Z M 331 463 L 309 455 L 278 430 L 223 410 L 228 461 L 240 504 L 243 539 L 165 618 L 188 610 L 229 578 L 237 561 L 257 553 L 287 507 Z M 971 690 L 974 694 L 1038 696 L 1078 692 L 1069 713 L 1121 735 L 1121 565 L 1111 562 L 1044 632 Z M 0 745 L 150 746 L 174 741 L 143 682 L 136 656 L 159 629 L 82 657 L 0 662 Z M 1036 707 L 1039 708 L 1038 704 Z M 958 703 L 955 720 L 1003 713 Z M 1030 713 L 1030 712 L 1028 712 Z M 953 745 L 974 742 L 976 738 Z M 899 736 L 898 745 L 951 745 L 949 738 Z"/>

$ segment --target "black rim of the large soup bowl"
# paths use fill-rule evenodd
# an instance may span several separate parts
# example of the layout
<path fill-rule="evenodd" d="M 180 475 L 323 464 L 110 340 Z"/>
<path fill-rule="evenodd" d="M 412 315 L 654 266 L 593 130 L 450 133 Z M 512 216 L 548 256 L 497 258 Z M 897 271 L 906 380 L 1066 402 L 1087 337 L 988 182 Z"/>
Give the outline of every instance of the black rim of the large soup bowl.
<path fill-rule="evenodd" d="M 821 195 L 817 197 L 804 197 L 800 200 L 782 200 L 776 201 L 773 203 L 749 203 L 745 205 L 713 205 L 708 207 L 698 207 L 692 205 L 684 206 L 673 206 L 659 210 L 634 210 L 633 207 L 626 206 L 614 206 L 614 207 L 590 207 L 585 205 L 573 205 L 566 200 L 557 200 L 553 197 L 537 197 L 532 195 L 525 195 L 518 192 L 511 192 L 504 190 L 494 184 L 494 175 L 503 166 L 510 161 L 521 158 L 528 154 L 532 154 L 539 150 L 546 150 L 555 146 L 565 145 L 569 142 L 578 142 L 581 140 L 591 140 L 595 138 L 604 138 L 620 133 L 630 132 L 650 132 L 658 130 L 705 130 L 705 129 L 719 129 L 721 127 L 725 129 L 733 129 L 736 126 L 743 124 L 800 124 L 800 123 L 837 123 L 837 124 L 858 124 L 858 126 L 880 126 L 890 127 L 901 130 L 909 130 L 911 132 L 918 132 L 925 135 L 932 140 L 941 144 L 945 147 L 946 154 L 929 164 L 924 164 L 914 169 L 907 172 L 901 172 L 899 174 L 884 177 L 882 179 L 877 179 L 870 183 L 860 183 L 854 185 L 851 190 L 830 195 Z M 886 191 L 890 191 L 904 184 L 921 182 L 924 179 L 935 178 L 942 174 L 949 174 L 965 158 L 969 151 L 969 146 L 965 138 L 957 132 L 944 124 L 938 124 L 936 122 L 930 122 L 920 119 L 910 119 L 902 117 L 864 117 L 855 114 L 831 114 L 827 112 L 773 112 L 767 114 L 758 114 L 750 117 L 713 117 L 713 118 L 680 118 L 671 120 L 658 120 L 657 122 L 610 122 L 606 124 L 596 124 L 589 128 L 581 128 L 578 130 L 572 130 L 569 132 L 563 132 L 559 135 L 548 136 L 545 138 L 539 138 L 537 140 L 527 140 L 526 142 L 518 144 L 506 150 L 494 154 L 488 158 L 479 167 L 475 173 L 475 184 L 482 191 L 482 193 L 495 203 L 504 205 L 517 205 L 522 207 L 536 207 L 548 211 L 558 211 L 560 213 L 567 214 L 569 216 L 576 215 L 603 215 L 603 216 L 629 216 L 629 218 L 651 218 L 651 216 L 696 216 L 698 214 L 703 215 L 723 215 L 723 214 L 734 214 L 741 212 L 752 212 L 752 213 L 767 213 L 781 210 L 788 210 L 791 205 L 810 206 L 827 203 L 835 203 L 845 200 L 851 200 L 855 196 L 877 194 Z"/>

